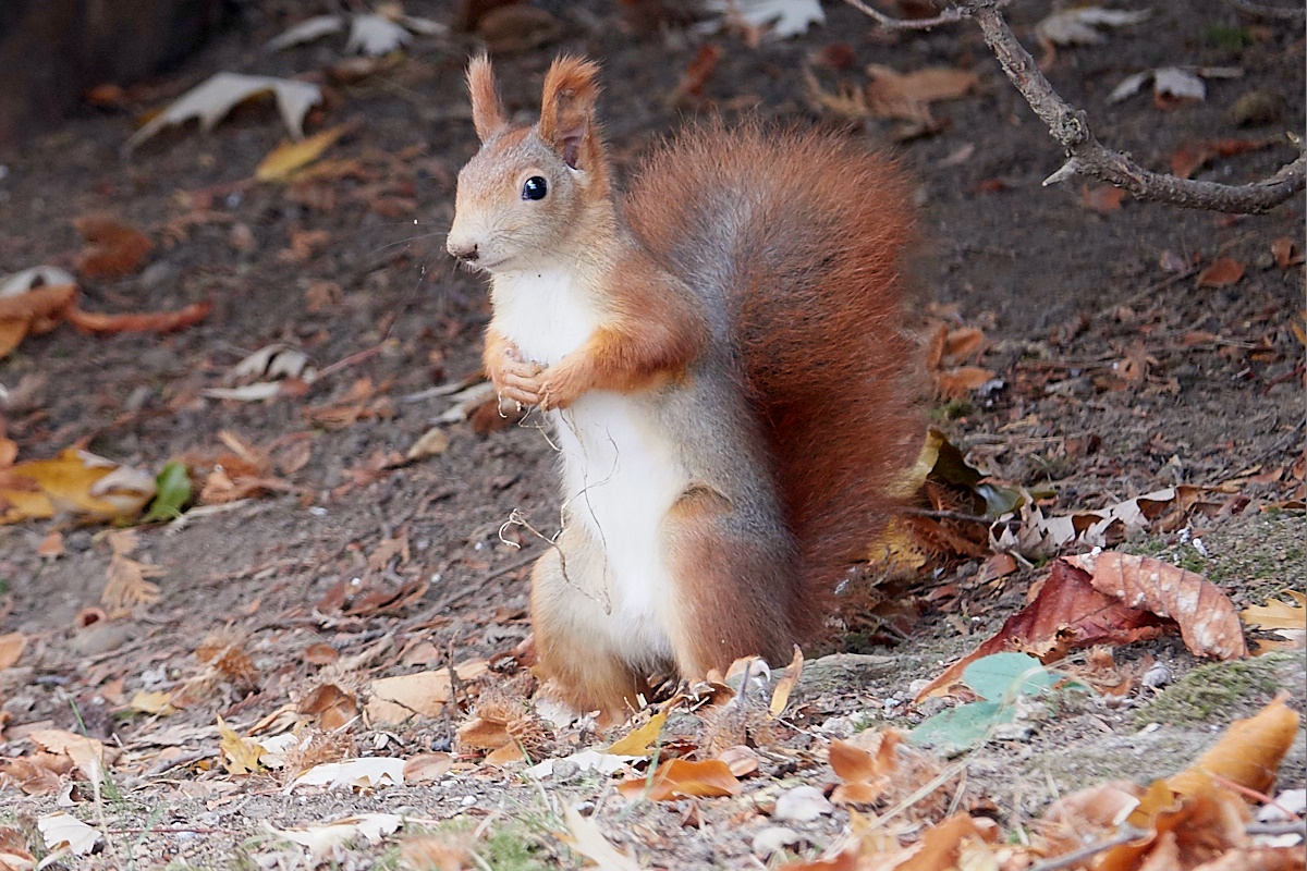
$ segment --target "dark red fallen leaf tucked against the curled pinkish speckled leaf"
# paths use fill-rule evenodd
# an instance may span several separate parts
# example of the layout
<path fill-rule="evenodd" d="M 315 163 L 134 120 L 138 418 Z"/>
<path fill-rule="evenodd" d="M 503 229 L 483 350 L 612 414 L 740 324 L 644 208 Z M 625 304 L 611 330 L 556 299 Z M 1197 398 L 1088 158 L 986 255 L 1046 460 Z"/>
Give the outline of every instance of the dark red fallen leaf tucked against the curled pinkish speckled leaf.
<path fill-rule="evenodd" d="M 1238 619 L 1238 618 L 1235 618 Z M 966 667 L 992 653 L 1022 650 L 1053 662 L 1067 650 L 1097 644 L 1131 644 L 1174 632 L 1176 624 L 1149 611 L 1129 607 L 1117 598 L 1094 589 L 1089 572 L 1065 559 L 1053 563 L 1039 593 L 975 650 L 962 657 L 916 695 L 920 701 L 942 695 L 962 679 Z"/>

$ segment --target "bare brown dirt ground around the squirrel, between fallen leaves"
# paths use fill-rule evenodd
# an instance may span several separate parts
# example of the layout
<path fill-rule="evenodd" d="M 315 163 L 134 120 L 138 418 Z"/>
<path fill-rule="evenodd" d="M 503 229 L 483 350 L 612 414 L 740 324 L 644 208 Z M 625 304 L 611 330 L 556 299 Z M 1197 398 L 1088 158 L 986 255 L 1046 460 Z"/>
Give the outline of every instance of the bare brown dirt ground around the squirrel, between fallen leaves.
<path fill-rule="evenodd" d="M 1175 533 L 1137 537 L 1128 548 L 1205 573 L 1236 607 L 1282 589 L 1307 589 L 1303 512 L 1261 509 L 1300 486 L 1291 469 L 1300 462 L 1304 435 L 1303 270 L 1282 269 L 1270 256 L 1277 238 L 1302 242 L 1300 196 L 1266 215 L 1230 218 L 1129 198 L 1099 213 L 1082 205 L 1078 182 L 1042 188 L 1061 155 L 966 24 L 889 35 L 855 10 L 827 4 L 826 25 L 802 38 L 749 48 L 736 37 L 714 37 L 724 51 L 702 101 L 673 107 L 668 95 L 702 38 L 684 27 L 635 35 L 616 4 L 538 5 L 555 16 L 561 34 L 495 59 L 510 110 L 535 111 L 544 69 L 557 52 L 600 59 L 605 132 L 622 167 L 697 114 L 838 120 L 813 107 L 801 74 L 829 43 L 851 46 L 856 63 L 851 72 L 822 71 L 826 85 L 857 80 L 868 63 L 976 72 L 980 93 L 935 107 L 945 121 L 938 133 L 891 146 L 915 174 L 923 212 L 920 290 L 910 316 L 921 323 L 928 312 L 944 312 L 955 324 L 983 328 L 988 350 L 980 363 L 1002 381 L 967 401 L 937 401 L 927 417 L 970 449 L 971 462 L 987 474 L 1055 488 L 1060 512 L 1280 469 L 1243 484 L 1253 498 L 1247 511 L 1188 530 L 1202 539 L 1205 555 Z M 1034 46 L 1030 27 L 1046 7 L 1018 4 L 1012 13 L 1027 44 Z M 280 54 L 259 48 L 291 21 L 320 12 L 318 4 L 284 0 L 243 9 L 226 35 L 174 74 L 149 82 L 140 103 L 158 106 L 223 69 L 289 76 L 339 61 L 341 43 L 331 39 Z M 452 16 L 443 3 L 412 0 L 406 10 L 437 21 Z M 548 800 L 562 795 L 597 802 L 596 817 L 609 837 L 647 867 L 758 867 L 750 841 L 765 820 L 741 821 L 703 802 L 695 810 L 699 825 L 682 827 L 685 802 L 623 807 L 597 780 L 540 787 L 514 769 L 476 768 L 437 786 L 363 795 L 288 795 L 268 778 L 243 781 L 235 793 L 196 786 L 216 774 L 209 770 L 216 716 L 244 729 L 315 686 L 320 674 L 303 656 L 311 644 L 328 644 L 345 657 L 372 650 L 361 673 L 372 679 L 490 657 L 511 650 L 529 631 L 524 559 L 540 547 L 524 528 L 505 525 L 521 512 L 545 534 L 557 529 L 553 456 L 541 434 L 529 427 L 477 434 L 469 423 L 452 423 L 450 447 L 439 456 L 383 471 L 375 461 L 406 451 L 450 406 L 448 397 L 423 390 L 477 367 L 488 319 L 484 285 L 455 270 L 443 252 L 454 179 L 476 148 L 461 84 L 474 44 L 416 39 L 392 69 L 333 85 L 311 129 L 349 124 L 329 155 L 361 159 L 375 172 L 337 180 L 325 192 L 243 183 L 282 138 L 268 106 L 242 107 L 210 133 L 193 125 L 169 132 L 129 159 L 120 149 L 135 129 L 132 111 L 88 107 L 4 162 L 0 274 L 42 262 L 69 265 L 81 248 L 72 221 L 110 210 L 148 229 L 157 245 L 144 272 L 85 282 L 84 307 L 156 311 L 213 302 L 201 324 L 165 337 L 89 337 L 63 326 L 26 340 L 0 362 L 0 384 L 9 393 L 4 422 L 22 458 L 52 456 L 81 440 L 102 456 L 157 470 L 174 457 L 216 454 L 221 431 L 263 448 L 311 447 L 307 464 L 285 475 L 293 494 L 257 496 L 180 531 L 144 529 L 136 558 L 166 571 L 156 578 L 162 598 L 86 628 L 78 624 L 86 609 L 99 606 L 110 559 L 102 530 L 60 526 L 64 554 L 46 559 L 37 547 L 50 525 L 0 528 L 0 633 L 29 636 L 21 663 L 0 671 L 7 729 L 43 721 L 77 729 L 80 720 L 93 736 L 144 760 L 159 752 L 152 740 L 161 729 L 193 727 L 166 757 L 171 767 L 142 763 L 118 782 L 122 794 L 106 808 L 110 828 L 120 832 L 114 847 L 65 867 L 125 867 L 127 857 L 132 867 L 272 867 L 273 859 L 257 858 L 273 855 L 265 824 L 397 808 L 506 832 L 482 850 L 491 867 L 579 867 L 579 858 L 548 834 L 555 825 Z M 1102 46 L 1063 48 L 1048 74 L 1089 111 L 1100 138 L 1165 170 L 1195 140 L 1300 132 L 1303 56 L 1300 26 L 1249 21 L 1205 0 L 1157 4 L 1148 22 L 1114 31 Z M 1124 76 L 1165 65 L 1238 67 L 1243 76 L 1212 80 L 1204 102 L 1170 111 L 1148 95 L 1107 102 Z M 1272 102 L 1280 110 L 1266 123 L 1238 127 L 1231 111 L 1249 91 L 1277 97 Z M 890 131 L 873 120 L 865 135 L 880 138 Z M 1291 157 L 1291 148 L 1273 145 L 1218 158 L 1200 178 L 1252 180 Z M 758 167 L 758 184 L 766 183 L 767 167 Z M 205 202 L 212 208 L 201 209 Z M 1246 274 L 1223 287 L 1197 286 L 1191 266 L 1218 256 L 1246 264 Z M 1176 261 L 1183 272 L 1174 272 Z M 272 342 L 303 349 L 319 368 L 349 364 L 302 397 L 201 397 L 234 363 Z M 349 362 L 356 354 L 361 359 Z M 1146 372 L 1123 377 L 1128 358 L 1142 360 Z M 306 414 L 340 401 L 365 377 L 374 387 L 369 402 L 388 400 L 375 406 L 378 414 L 339 428 Z M 370 571 L 369 556 L 397 537 L 408 542 L 408 559 Z M 835 658 L 810 667 L 799 691 L 796 722 L 810 740 L 920 720 L 908 704 L 912 682 L 935 676 L 996 631 L 1042 573 L 1033 568 L 987 585 L 974 582 L 976 569 L 975 560 L 954 560 L 895 593 L 911 605 L 912 618 L 893 646 L 881 636 L 833 633 L 822 652 Z M 430 588 L 418 601 L 380 614 L 356 616 L 324 605 L 333 588 L 357 577 L 395 586 L 426 580 Z M 937 607 L 932 602 L 940 599 L 929 594 L 948 584 L 959 592 Z M 855 619 L 846 615 L 848 624 Z M 254 658 L 252 691 L 222 686 L 166 721 L 125 708 L 139 689 L 166 689 L 193 676 L 195 645 L 214 629 L 240 639 Z M 414 665 L 401 654 L 418 641 L 435 653 Z M 1179 639 L 1119 656 L 1151 656 L 1174 680 L 1111 704 L 1089 699 L 975 751 L 966 757 L 967 795 L 991 800 L 996 819 L 1019 828 L 1056 795 L 1087 782 L 1146 781 L 1183 768 L 1214 731 L 1278 688 L 1291 691 L 1299 712 L 1307 704 L 1300 656 L 1196 670 L 1201 662 Z M 115 686 L 118 678 L 124 680 Z M 395 731 L 356 725 L 352 734 L 363 755 L 448 751 L 463 716 L 447 713 Z M 1282 786 L 1307 782 L 1300 738 Z M 0 755 L 29 751 L 21 739 L 0 742 Z M 833 780 L 829 770 L 823 781 L 819 772 L 775 769 L 758 802 L 787 785 Z M 5 789 L 0 817 L 30 824 L 56 798 Z M 801 846 L 829 845 L 847 819 L 838 812 L 796 824 Z M 162 828 L 176 831 L 156 831 Z M 291 854 L 278 855 L 290 862 Z M 349 854 L 340 867 L 386 862 L 393 862 L 393 851 L 375 847 Z"/>

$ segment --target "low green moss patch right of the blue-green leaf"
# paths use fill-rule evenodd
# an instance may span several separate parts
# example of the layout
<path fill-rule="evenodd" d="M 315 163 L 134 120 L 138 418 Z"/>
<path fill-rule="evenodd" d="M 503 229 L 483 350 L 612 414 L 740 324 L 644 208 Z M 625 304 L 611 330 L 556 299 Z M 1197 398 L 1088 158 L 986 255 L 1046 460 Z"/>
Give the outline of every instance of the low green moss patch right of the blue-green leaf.
<path fill-rule="evenodd" d="M 1214 662 L 1195 669 L 1134 713 L 1136 725 L 1230 721 L 1240 701 L 1283 687 L 1282 669 L 1297 663 L 1293 652 Z"/>

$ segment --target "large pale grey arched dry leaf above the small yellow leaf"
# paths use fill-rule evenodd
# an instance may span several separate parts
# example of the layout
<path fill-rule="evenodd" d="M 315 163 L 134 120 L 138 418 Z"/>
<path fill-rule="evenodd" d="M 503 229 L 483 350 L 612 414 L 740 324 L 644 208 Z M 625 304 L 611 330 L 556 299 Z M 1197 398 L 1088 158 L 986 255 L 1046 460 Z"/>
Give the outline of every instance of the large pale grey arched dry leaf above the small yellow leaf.
<path fill-rule="evenodd" d="M 281 120 L 285 121 L 290 136 L 297 140 L 303 138 L 305 115 L 323 99 L 318 85 L 271 76 L 217 73 L 182 94 L 175 103 L 146 121 L 127 140 L 127 150 L 135 149 L 165 127 L 184 124 L 191 119 L 197 119 L 200 129 L 208 132 L 238 103 L 268 93 L 276 98 L 277 111 L 281 112 Z"/>

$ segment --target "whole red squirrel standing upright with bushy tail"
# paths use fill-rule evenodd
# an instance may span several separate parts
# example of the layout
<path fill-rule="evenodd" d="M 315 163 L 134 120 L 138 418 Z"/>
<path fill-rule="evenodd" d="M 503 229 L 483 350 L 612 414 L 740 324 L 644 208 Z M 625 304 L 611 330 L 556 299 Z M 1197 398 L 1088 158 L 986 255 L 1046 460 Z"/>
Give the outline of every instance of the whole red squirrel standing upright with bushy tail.
<path fill-rule="evenodd" d="M 910 187 L 848 137 L 720 123 L 613 187 L 599 68 L 514 127 L 490 61 L 448 251 L 490 274 L 485 368 L 538 406 L 563 529 L 532 571 L 538 671 L 621 720 L 654 675 L 788 661 L 915 452 L 898 320 Z"/>

